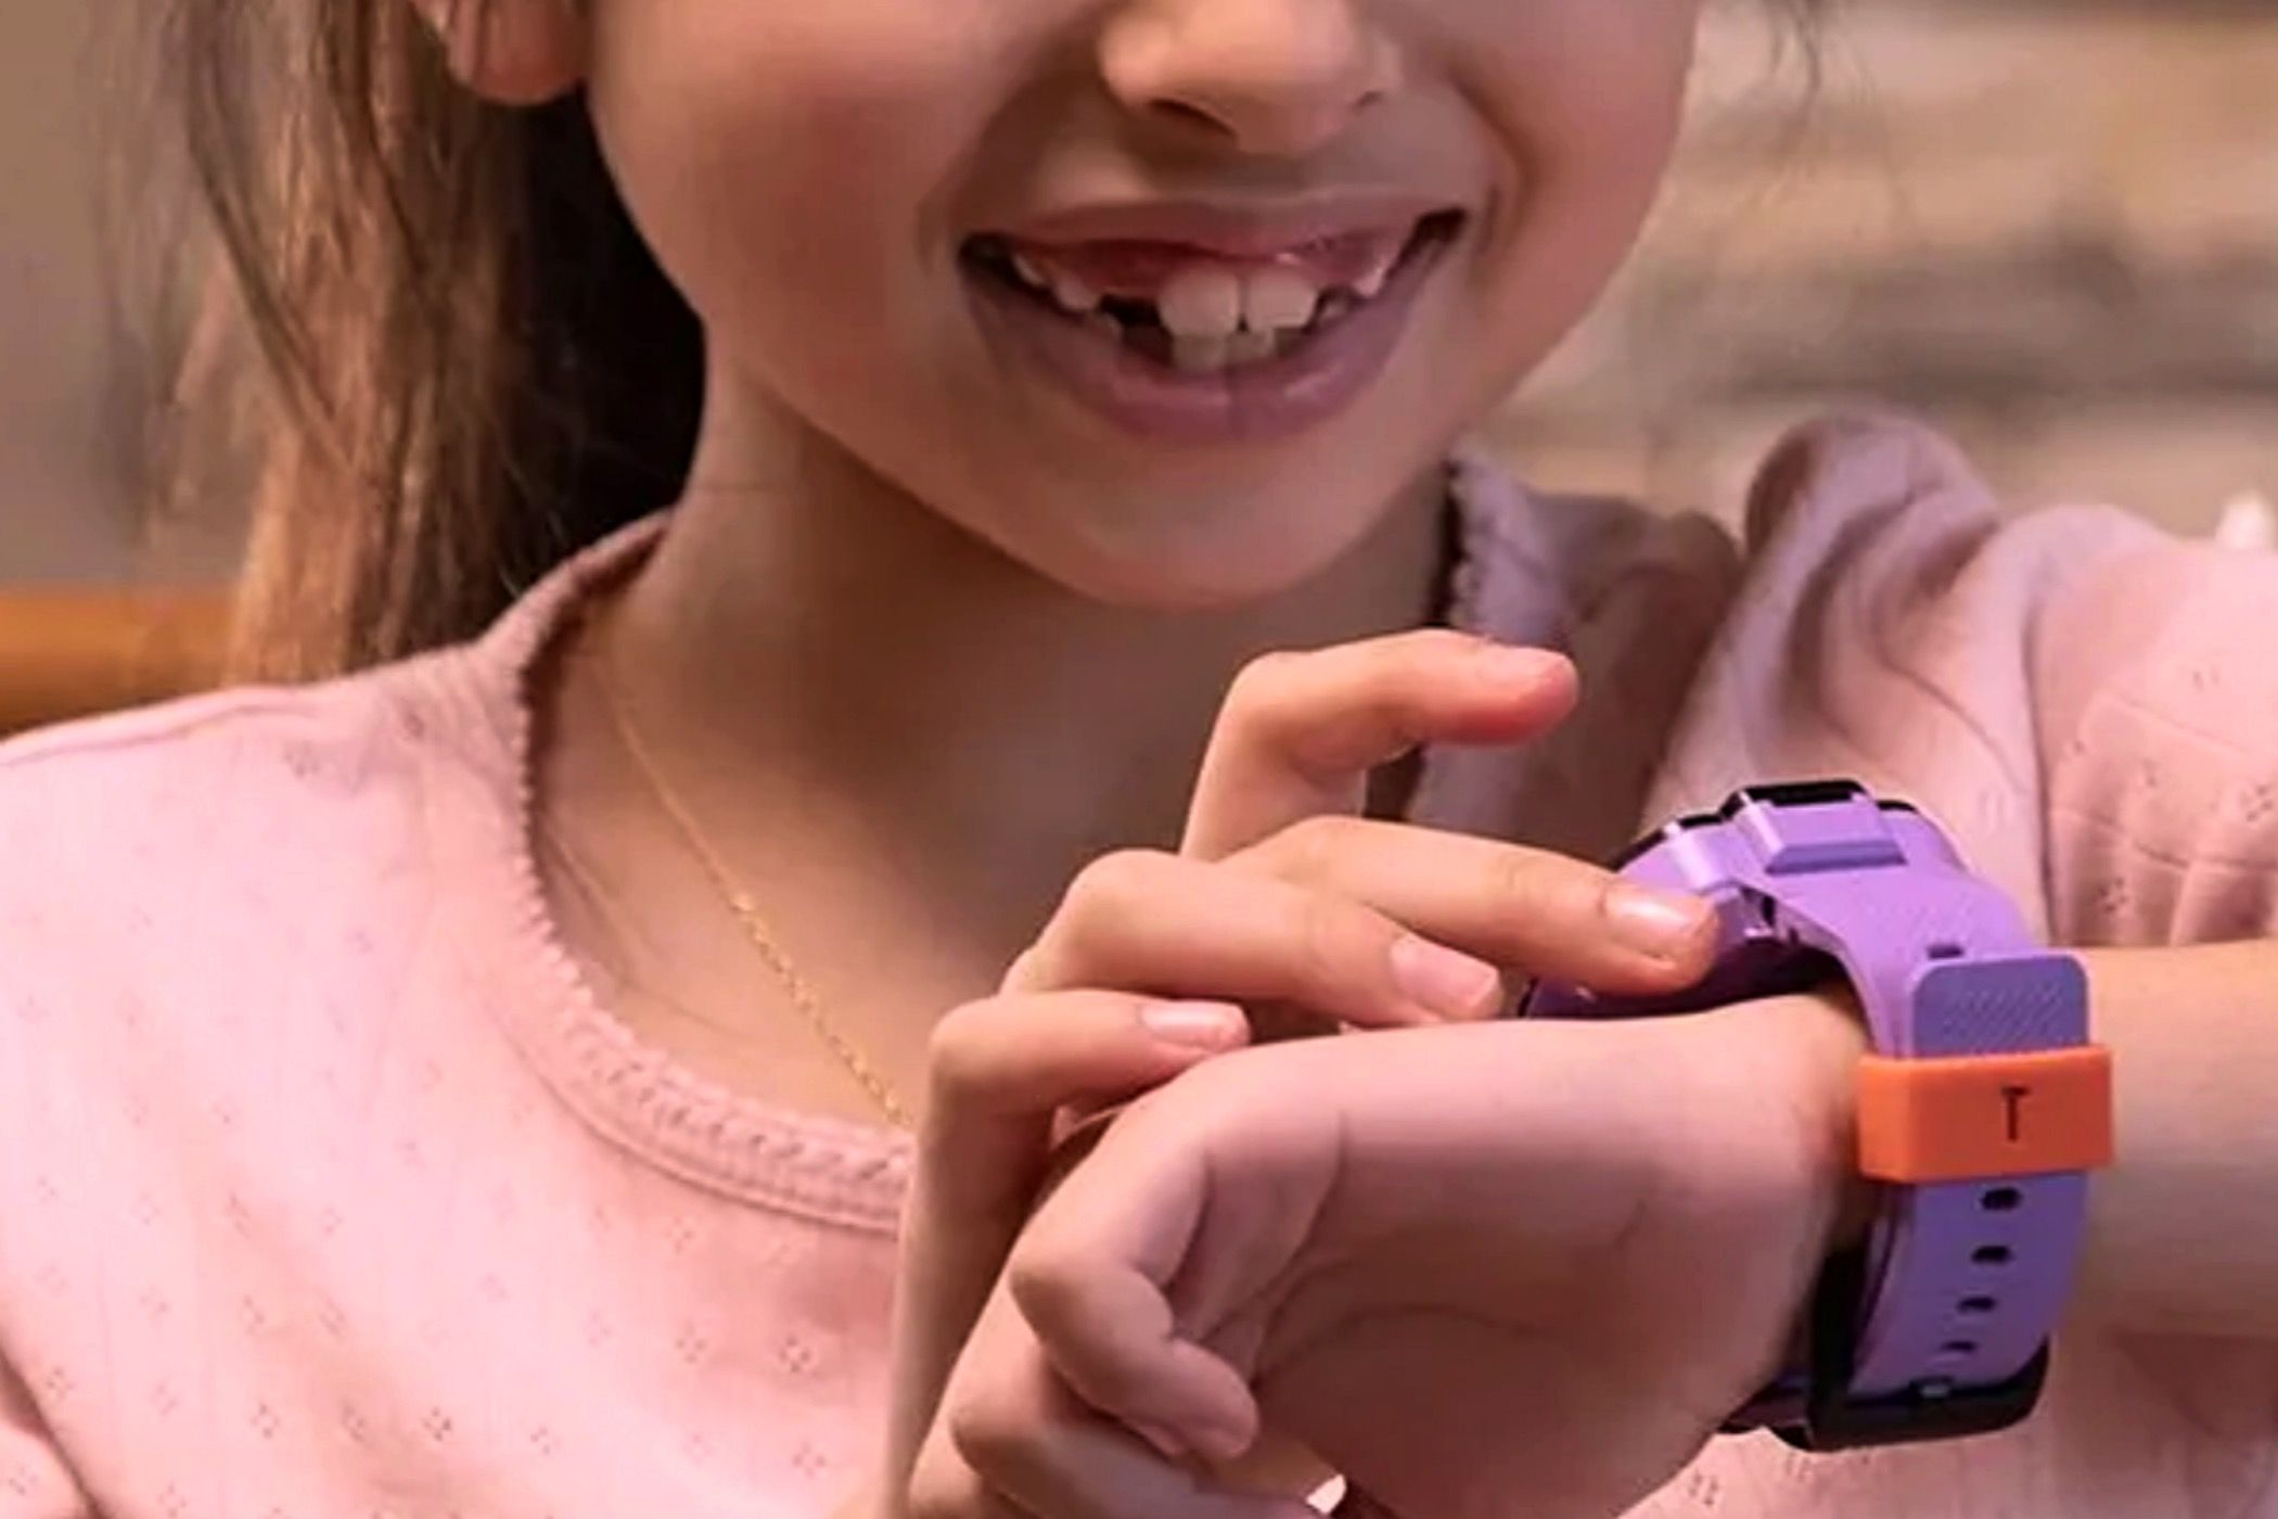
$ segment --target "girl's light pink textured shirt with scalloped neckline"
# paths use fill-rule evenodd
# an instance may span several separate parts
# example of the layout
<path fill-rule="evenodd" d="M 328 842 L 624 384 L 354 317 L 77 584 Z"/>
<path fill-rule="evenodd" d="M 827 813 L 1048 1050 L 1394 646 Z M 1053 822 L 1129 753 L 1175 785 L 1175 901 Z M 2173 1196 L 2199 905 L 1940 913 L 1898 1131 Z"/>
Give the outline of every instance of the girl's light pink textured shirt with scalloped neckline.
<path fill-rule="evenodd" d="M 2057 941 L 2278 934 L 2278 558 L 2005 522 L 1934 437 L 1811 428 L 1747 542 L 1458 471 L 1451 619 L 1576 717 L 1419 820 L 1604 854 L 1743 781 L 1939 815 Z M 738 1100 L 572 970 L 483 638 L 0 747 L 0 1519 L 813 1517 L 877 1428 L 904 1143 Z M 2271 1348 L 2075 1335 L 2027 1428 L 1722 1442 L 1654 1517 L 2278 1512 Z"/>

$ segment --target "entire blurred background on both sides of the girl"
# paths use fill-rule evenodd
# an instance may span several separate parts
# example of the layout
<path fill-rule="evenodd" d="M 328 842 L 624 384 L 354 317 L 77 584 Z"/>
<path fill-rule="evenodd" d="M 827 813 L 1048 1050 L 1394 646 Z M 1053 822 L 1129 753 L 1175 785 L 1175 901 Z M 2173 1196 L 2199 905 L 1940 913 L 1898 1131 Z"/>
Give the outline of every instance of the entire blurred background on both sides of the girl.
<path fill-rule="evenodd" d="M 141 510 L 178 335 L 116 301 L 96 216 L 139 2 L 0 5 L 0 731 L 194 683 L 203 624 L 137 608 L 210 599 L 237 553 L 235 501 Z M 1490 442 L 1542 485 L 1731 519 L 1779 430 L 1868 399 L 2021 508 L 2251 533 L 2278 494 L 2278 5 L 1834 0 L 1813 89 L 1754 0 L 1713 0 L 1647 246 Z"/>

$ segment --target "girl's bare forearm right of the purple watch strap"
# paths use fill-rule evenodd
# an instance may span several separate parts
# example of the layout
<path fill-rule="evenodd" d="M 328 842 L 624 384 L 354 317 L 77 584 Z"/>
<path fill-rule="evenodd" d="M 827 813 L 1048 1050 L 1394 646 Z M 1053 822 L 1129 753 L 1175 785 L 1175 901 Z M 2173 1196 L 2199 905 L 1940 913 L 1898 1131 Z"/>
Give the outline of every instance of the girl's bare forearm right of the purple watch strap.
<path fill-rule="evenodd" d="M 2080 959 L 2119 1105 L 2080 1316 L 2278 1339 L 2278 941 Z"/>

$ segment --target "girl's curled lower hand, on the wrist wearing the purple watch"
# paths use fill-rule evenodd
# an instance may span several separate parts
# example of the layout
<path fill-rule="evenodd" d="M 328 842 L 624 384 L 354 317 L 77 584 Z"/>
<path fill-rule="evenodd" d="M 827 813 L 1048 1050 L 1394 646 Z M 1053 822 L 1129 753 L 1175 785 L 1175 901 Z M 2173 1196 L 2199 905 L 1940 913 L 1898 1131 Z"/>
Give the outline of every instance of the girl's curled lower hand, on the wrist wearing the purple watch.
<path fill-rule="evenodd" d="M 1098 1519 L 1617 1514 L 1777 1369 L 1852 1200 L 1845 1000 L 1310 1041 L 1123 1114 L 1014 1250 L 950 1389 L 980 1478 Z M 1080 1437 L 1071 1437 L 1080 1430 Z"/>

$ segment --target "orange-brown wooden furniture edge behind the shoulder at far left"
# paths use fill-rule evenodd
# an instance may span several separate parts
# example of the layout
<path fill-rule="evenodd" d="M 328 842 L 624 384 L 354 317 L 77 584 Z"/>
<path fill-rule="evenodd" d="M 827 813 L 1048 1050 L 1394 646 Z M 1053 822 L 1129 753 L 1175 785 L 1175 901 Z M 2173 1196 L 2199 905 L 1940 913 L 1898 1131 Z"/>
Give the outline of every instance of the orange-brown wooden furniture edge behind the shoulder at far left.
<path fill-rule="evenodd" d="M 205 690 L 221 590 L 0 590 L 0 736 Z"/>

